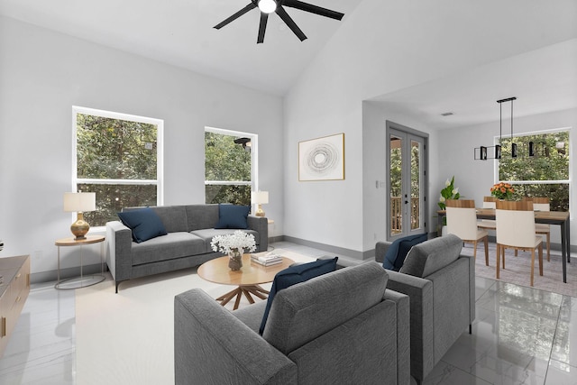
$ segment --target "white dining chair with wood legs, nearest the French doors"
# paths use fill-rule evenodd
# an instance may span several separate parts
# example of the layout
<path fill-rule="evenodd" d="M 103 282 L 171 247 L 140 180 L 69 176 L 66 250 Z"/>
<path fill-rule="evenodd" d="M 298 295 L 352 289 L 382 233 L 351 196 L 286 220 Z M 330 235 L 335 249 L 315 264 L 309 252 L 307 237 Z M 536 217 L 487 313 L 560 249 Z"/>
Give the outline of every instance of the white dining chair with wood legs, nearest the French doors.
<path fill-rule="evenodd" d="M 473 199 L 447 199 L 447 234 L 455 234 L 463 243 L 472 243 L 473 258 L 477 259 L 477 243 L 485 245 L 485 265 L 489 266 L 489 233 L 477 227 L 477 212 Z"/>

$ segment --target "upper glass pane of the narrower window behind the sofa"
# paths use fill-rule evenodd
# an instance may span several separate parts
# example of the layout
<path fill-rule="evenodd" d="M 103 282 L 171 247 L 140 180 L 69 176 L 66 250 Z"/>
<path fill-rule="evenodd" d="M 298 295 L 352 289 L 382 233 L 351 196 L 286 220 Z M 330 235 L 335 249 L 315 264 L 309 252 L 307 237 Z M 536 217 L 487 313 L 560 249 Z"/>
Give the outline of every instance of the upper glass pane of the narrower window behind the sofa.
<path fill-rule="evenodd" d="M 205 132 L 205 180 L 251 181 L 251 151 L 234 139 L 232 135 Z"/>

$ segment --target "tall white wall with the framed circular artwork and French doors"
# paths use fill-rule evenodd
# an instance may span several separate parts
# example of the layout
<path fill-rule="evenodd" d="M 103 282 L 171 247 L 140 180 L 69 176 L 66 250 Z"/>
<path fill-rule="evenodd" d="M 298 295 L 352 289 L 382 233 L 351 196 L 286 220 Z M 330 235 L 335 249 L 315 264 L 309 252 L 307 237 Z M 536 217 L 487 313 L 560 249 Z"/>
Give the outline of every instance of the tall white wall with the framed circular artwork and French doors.
<path fill-rule="evenodd" d="M 363 219 L 363 199 L 371 197 L 363 188 L 374 180 L 363 180 L 363 168 L 380 153 L 363 147 L 362 101 L 574 37 L 574 14 L 563 12 L 574 4 L 550 5 L 543 12 L 536 0 L 363 0 L 285 97 L 285 234 L 352 254 L 373 248 L 380 229 Z M 345 134 L 345 180 L 299 182 L 298 142 L 333 133 Z M 435 156 L 444 153 L 435 144 L 431 191 Z"/>

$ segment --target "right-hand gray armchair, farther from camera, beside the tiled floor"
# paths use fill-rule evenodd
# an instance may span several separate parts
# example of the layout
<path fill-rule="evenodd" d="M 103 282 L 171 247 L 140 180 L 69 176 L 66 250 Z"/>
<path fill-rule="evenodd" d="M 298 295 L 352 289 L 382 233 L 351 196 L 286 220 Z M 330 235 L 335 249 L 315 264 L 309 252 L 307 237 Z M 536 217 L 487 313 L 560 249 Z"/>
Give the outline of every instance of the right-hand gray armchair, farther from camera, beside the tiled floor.
<path fill-rule="evenodd" d="M 382 262 L 391 243 L 375 247 Z M 389 271 L 387 289 L 410 298 L 411 375 L 421 383 L 475 318 L 475 261 L 449 234 L 411 248 L 401 269 Z"/>

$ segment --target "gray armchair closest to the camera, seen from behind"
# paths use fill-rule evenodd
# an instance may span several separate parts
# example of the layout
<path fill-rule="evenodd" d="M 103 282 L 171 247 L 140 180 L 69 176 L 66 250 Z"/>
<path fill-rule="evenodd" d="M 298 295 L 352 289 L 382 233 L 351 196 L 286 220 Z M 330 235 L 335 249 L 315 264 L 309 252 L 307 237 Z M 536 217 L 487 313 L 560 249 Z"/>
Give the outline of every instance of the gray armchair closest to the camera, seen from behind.
<path fill-rule="evenodd" d="M 175 384 L 408 384 L 408 297 L 376 262 L 230 311 L 202 289 L 174 300 Z"/>

